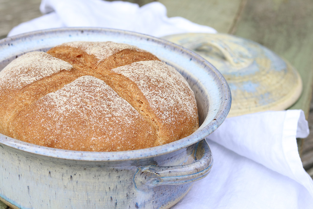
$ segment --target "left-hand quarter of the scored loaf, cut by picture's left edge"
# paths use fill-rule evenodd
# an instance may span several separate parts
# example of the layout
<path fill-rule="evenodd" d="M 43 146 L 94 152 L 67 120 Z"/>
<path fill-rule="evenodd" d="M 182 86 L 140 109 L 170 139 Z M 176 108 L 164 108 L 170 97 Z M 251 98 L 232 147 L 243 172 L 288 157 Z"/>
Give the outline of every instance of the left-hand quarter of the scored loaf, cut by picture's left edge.
<path fill-rule="evenodd" d="M 47 67 L 45 63 L 50 63 Z M 50 66 L 49 65 L 49 66 Z M 25 54 L 0 73 L 0 132 L 12 135 L 12 118 L 36 99 L 79 77 L 72 65 L 44 52 Z"/>

